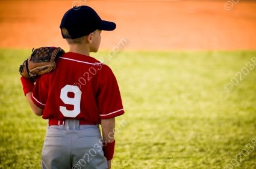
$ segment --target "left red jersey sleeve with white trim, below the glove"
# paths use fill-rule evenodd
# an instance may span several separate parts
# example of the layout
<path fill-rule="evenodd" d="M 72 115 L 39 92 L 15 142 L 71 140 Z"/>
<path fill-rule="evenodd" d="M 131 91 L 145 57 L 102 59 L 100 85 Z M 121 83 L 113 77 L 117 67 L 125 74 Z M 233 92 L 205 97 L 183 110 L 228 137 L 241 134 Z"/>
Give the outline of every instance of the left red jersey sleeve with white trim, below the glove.
<path fill-rule="evenodd" d="M 32 92 L 32 100 L 37 107 L 45 108 L 46 100 L 48 98 L 48 84 L 45 76 L 37 78 L 36 85 Z"/>

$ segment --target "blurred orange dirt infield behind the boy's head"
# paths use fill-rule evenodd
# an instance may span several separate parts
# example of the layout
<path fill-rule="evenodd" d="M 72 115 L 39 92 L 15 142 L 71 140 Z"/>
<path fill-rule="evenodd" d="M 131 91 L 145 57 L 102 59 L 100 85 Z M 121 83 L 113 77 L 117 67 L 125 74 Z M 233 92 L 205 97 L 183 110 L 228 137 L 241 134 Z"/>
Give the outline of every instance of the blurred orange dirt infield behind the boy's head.
<path fill-rule="evenodd" d="M 102 32 L 101 49 L 125 38 L 132 50 L 255 50 L 256 2 L 233 0 L 231 10 L 225 2 L 0 1 L 0 47 L 67 49 L 58 26 L 72 4 L 82 4 L 117 24 Z"/>

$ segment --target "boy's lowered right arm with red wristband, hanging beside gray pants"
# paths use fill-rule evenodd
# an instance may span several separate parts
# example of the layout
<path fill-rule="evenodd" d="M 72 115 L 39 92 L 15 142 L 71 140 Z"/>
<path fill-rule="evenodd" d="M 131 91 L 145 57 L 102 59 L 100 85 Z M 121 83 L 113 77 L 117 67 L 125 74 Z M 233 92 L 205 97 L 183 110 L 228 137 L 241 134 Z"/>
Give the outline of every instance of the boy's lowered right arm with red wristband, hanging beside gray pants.
<path fill-rule="evenodd" d="M 102 128 L 102 137 L 105 141 L 103 145 L 104 156 L 108 160 L 108 168 L 111 168 L 111 159 L 114 155 L 114 127 L 115 127 L 115 118 L 111 119 L 101 119 L 101 128 Z"/>

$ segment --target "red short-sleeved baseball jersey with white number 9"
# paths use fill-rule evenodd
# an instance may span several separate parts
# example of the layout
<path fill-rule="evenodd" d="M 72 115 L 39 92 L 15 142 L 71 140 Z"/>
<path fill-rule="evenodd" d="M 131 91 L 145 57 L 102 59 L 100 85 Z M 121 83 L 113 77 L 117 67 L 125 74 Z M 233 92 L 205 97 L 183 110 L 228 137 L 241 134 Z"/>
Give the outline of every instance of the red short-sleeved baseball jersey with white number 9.
<path fill-rule="evenodd" d="M 100 123 L 124 113 L 116 77 L 95 58 L 67 52 L 56 69 L 40 76 L 32 100 L 43 108 L 43 119 L 84 119 Z"/>

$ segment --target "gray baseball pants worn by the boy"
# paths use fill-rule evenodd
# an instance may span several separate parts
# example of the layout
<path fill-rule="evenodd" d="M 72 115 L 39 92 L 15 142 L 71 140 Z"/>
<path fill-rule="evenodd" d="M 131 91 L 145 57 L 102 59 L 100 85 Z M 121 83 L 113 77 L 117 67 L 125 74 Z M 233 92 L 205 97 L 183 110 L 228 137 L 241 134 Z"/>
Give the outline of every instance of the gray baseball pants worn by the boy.
<path fill-rule="evenodd" d="M 49 126 L 43 143 L 42 168 L 107 168 L 99 125 L 79 125 L 79 120 L 69 119 L 63 126 Z"/>

